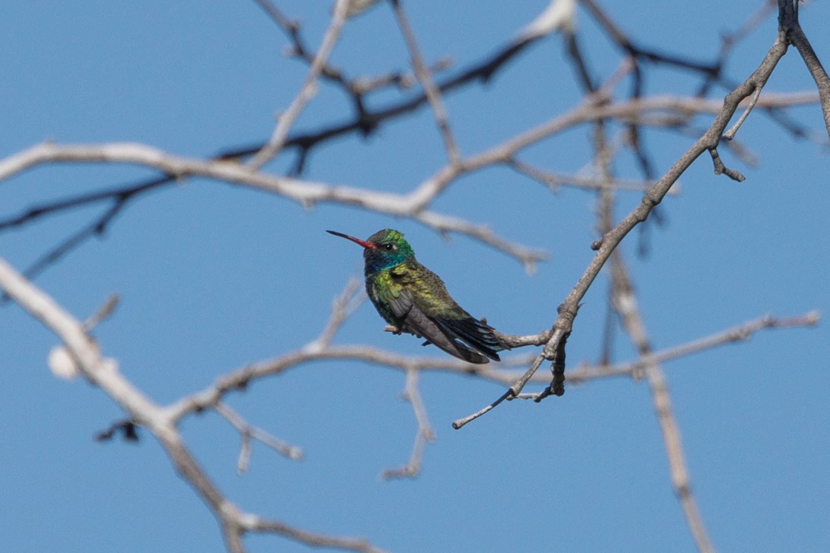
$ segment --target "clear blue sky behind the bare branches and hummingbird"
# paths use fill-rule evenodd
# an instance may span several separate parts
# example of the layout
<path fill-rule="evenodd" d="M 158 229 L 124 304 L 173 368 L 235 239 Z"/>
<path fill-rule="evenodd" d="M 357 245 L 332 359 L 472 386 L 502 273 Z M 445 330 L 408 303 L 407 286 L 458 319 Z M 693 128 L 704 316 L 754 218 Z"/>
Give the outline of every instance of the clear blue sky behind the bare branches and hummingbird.
<path fill-rule="evenodd" d="M 546 2 L 405 2 L 427 60 L 455 67 L 481 59 L 530 22 Z M 610 4 L 611 2 L 605 2 Z M 411 4 L 411 5 L 410 5 Z M 608 6 L 638 44 L 696 60 L 717 55 L 760 2 L 640 2 Z M 316 46 L 330 2 L 278 2 Z M 825 65 L 823 2 L 802 8 L 803 27 Z M 739 82 L 774 41 L 768 17 L 725 67 Z M 593 71 L 619 54 L 585 12 L 579 32 Z M 30 2 L 0 17 L 0 156 L 46 139 L 140 142 L 185 156 L 256 143 L 291 102 L 305 65 L 282 54 L 286 37 L 255 2 Z M 408 57 L 388 6 L 349 22 L 333 56 L 348 75 L 405 70 Z M 653 69 L 648 94 L 689 94 L 697 78 Z M 766 90 L 811 90 L 793 50 Z M 626 89 L 623 87 L 621 93 Z M 720 98 L 725 90 L 713 95 Z M 445 98 L 462 153 L 489 148 L 574 107 L 574 82 L 559 36 L 540 41 L 488 85 Z M 370 99 L 375 107 L 392 92 Z M 330 85 L 295 124 L 319 129 L 349 113 Z M 747 180 L 716 177 L 700 158 L 666 198 L 666 224 L 650 226 L 650 255 L 637 232 L 623 243 L 654 347 L 662 349 L 765 313 L 830 312 L 827 133 L 817 105 L 788 111 L 816 140 L 791 137 L 759 112 L 740 130 L 758 158 Z M 701 129 L 709 117 L 696 119 Z M 588 127 L 530 148 L 523 158 L 555 172 L 591 162 Z M 657 172 L 692 137 L 650 131 Z M 291 154 L 267 167 L 281 172 Z M 428 109 L 349 136 L 310 156 L 303 177 L 407 192 L 446 163 Z M 637 178 L 630 155 L 615 170 Z M 61 164 L 2 182 L 2 218 L 28 206 L 153 177 L 141 167 Z M 639 192 L 618 197 L 618 216 Z M 552 194 L 505 168 L 460 179 L 433 208 L 488 222 L 509 240 L 547 250 L 526 274 L 508 256 L 463 236 L 443 240 L 407 219 L 352 207 L 305 211 L 279 196 L 191 179 L 140 198 L 100 240 L 37 279 L 77 318 L 119 293 L 115 315 L 95 330 L 105 355 L 159 403 L 208 386 L 251 361 L 314 339 L 332 299 L 362 271 L 360 250 L 325 229 L 366 237 L 403 230 L 418 259 L 441 274 L 468 311 L 503 332 L 540 332 L 593 253 L 594 197 Z M 103 206 L 51 216 L 0 234 L 0 256 L 25 268 L 91 221 Z M 569 339 L 569 366 L 597 361 L 607 283 L 588 292 Z M 408 354 L 413 337 L 382 332 L 367 303 L 335 342 Z M 632 358 L 621 334 L 615 359 Z M 46 355 L 56 337 L 20 308 L 0 308 L 0 532 L 2 551 L 222 551 L 211 513 L 142 434 L 139 444 L 93 435 L 123 413 L 83 381 L 56 379 Z M 505 356 L 506 357 L 506 356 Z M 830 336 L 812 329 L 760 332 L 748 342 L 664 366 L 693 490 L 720 551 L 824 551 L 830 542 L 830 432 L 826 377 Z M 421 391 L 437 441 L 422 475 L 387 482 L 384 468 L 410 453 L 416 424 L 400 400 L 401 373 L 351 361 L 316 362 L 257 381 L 229 403 L 252 424 L 301 446 L 296 463 L 256 444 L 249 473 L 236 473 L 238 434 L 215 414 L 185 420 L 184 438 L 223 492 L 242 508 L 310 531 L 366 536 L 388 551 L 693 551 L 647 386 L 622 379 L 571 386 L 540 405 L 501 405 L 459 431 L 450 423 L 486 405 L 500 386 L 429 373 Z M 307 551 L 276 536 L 247 538 L 250 551 Z"/>

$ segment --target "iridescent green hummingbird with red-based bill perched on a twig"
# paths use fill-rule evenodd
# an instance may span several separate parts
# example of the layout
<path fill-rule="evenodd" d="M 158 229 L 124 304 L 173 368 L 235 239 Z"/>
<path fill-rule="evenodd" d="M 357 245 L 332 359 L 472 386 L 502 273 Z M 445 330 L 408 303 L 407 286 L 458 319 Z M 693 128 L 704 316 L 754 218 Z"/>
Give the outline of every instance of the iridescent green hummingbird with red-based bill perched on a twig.
<path fill-rule="evenodd" d="M 378 230 L 367 240 L 326 230 L 364 247 L 366 293 L 395 333 L 408 332 L 471 363 L 500 361 L 505 347 L 484 321 L 452 299 L 442 279 L 418 263 L 398 230 Z"/>

